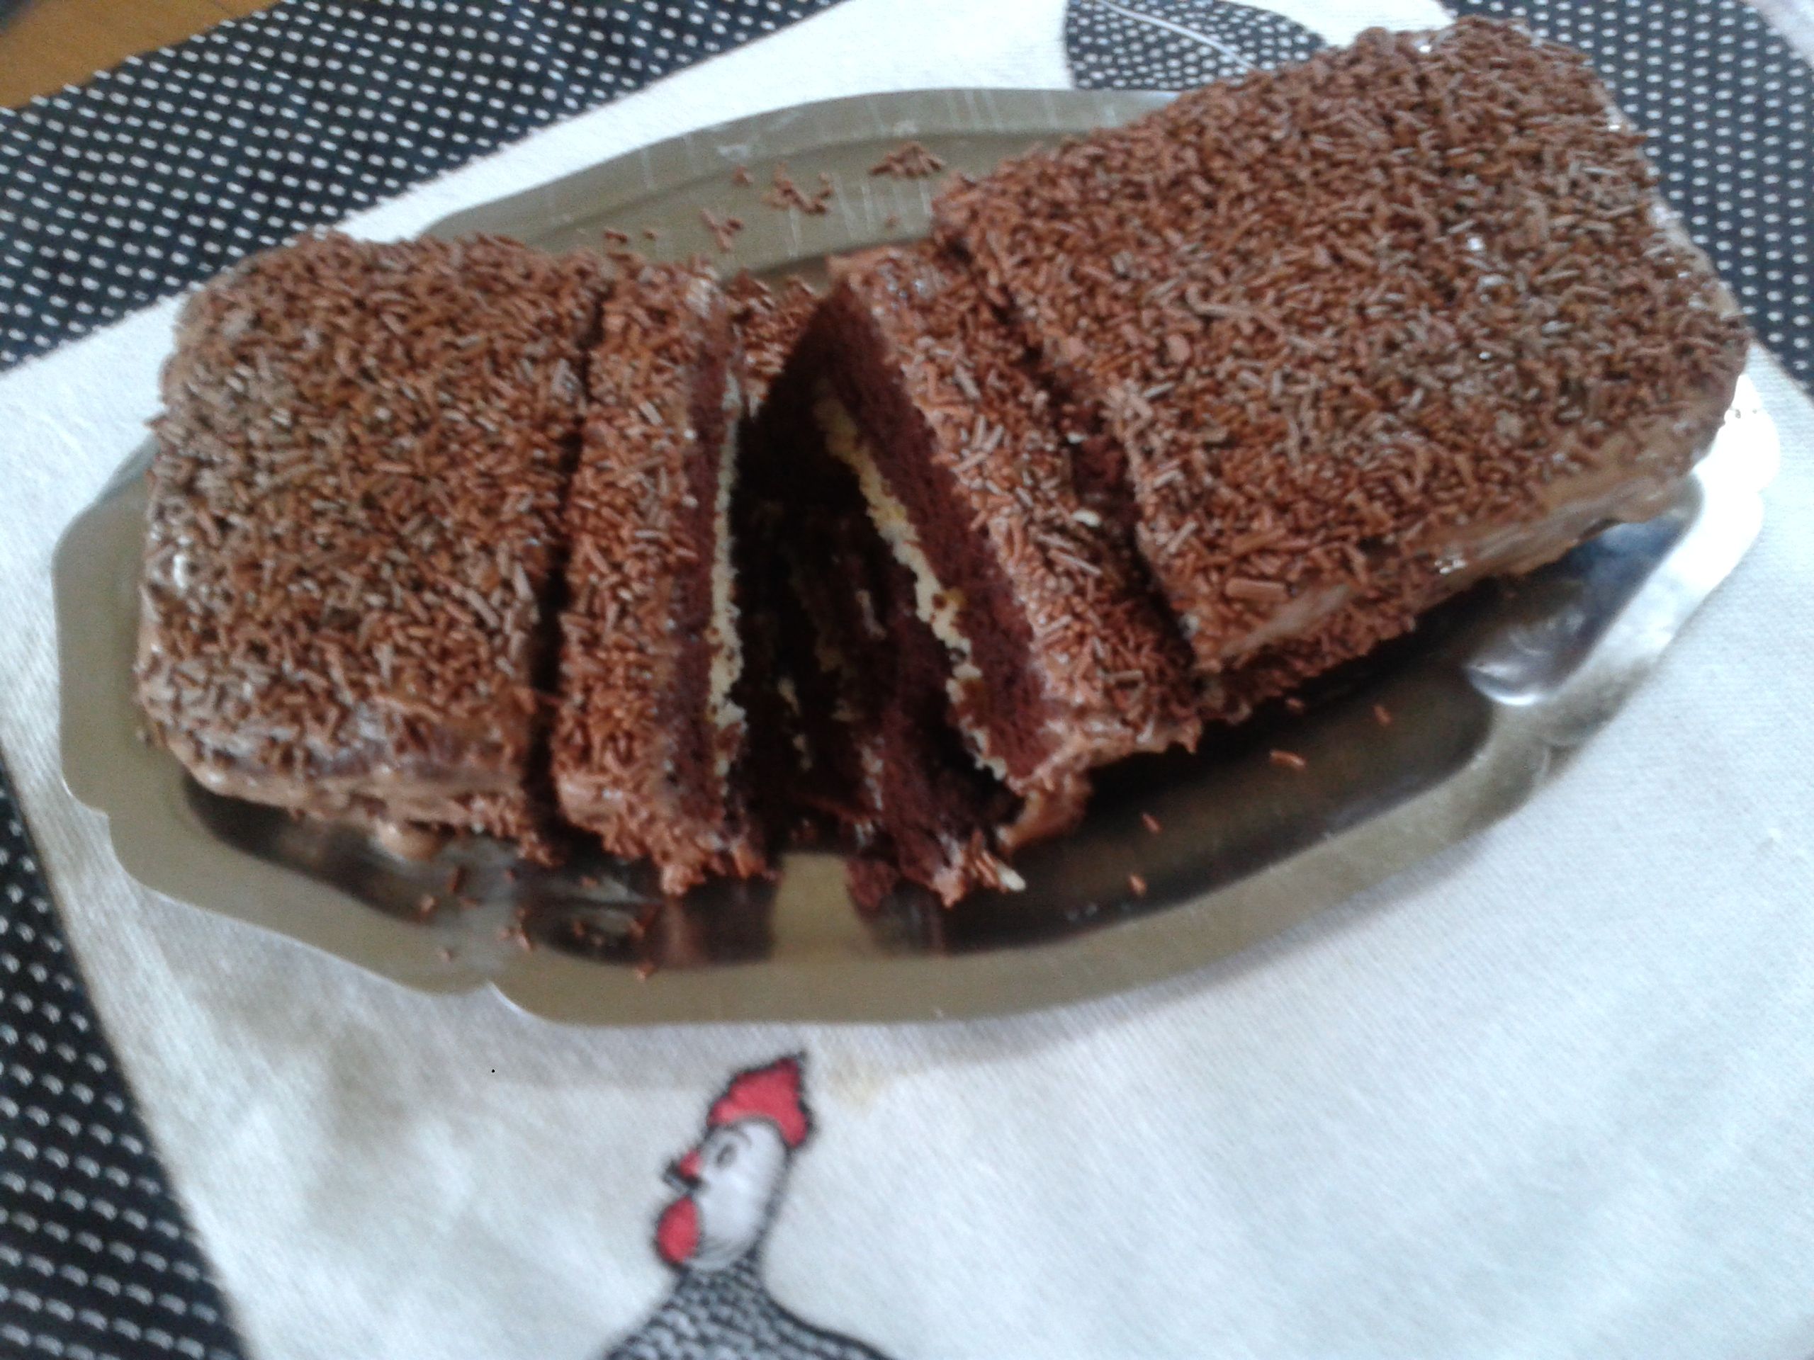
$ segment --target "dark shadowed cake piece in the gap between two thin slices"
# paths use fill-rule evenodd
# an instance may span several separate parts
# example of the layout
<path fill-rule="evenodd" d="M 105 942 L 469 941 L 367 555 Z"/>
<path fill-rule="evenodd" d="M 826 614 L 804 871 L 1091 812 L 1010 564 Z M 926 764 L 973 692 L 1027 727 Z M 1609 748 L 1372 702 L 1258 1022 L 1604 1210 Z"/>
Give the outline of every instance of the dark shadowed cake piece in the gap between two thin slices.
<path fill-rule="evenodd" d="M 902 879 L 947 903 L 976 887 L 1018 887 L 996 852 L 1018 800 L 952 729 L 951 664 L 916 611 L 914 580 L 876 533 L 854 473 L 825 452 L 813 413 L 818 357 L 798 345 L 816 299 L 753 281 L 731 292 L 751 392 L 764 397 L 738 491 L 749 524 L 742 580 L 756 611 L 746 638 L 755 651 L 755 638 L 771 636 L 775 656 L 764 792 L 809 840 L 849 852 L 862 905 Z"/>

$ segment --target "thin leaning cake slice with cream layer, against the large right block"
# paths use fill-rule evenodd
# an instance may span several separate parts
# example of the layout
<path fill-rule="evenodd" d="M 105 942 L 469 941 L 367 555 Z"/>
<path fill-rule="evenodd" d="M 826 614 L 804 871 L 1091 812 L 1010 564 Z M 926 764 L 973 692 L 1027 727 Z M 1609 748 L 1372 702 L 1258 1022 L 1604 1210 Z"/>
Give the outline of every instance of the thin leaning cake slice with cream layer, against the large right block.
<path fill-rule="evenodd" d="M 1003 845 L 1072 825 L 1092 767 L 1195 742 L 1188 656 L 967 270 L 931 247 L 849 261 L 798 359 L 945 647 L 954 725 L 1021 798 Z"/>

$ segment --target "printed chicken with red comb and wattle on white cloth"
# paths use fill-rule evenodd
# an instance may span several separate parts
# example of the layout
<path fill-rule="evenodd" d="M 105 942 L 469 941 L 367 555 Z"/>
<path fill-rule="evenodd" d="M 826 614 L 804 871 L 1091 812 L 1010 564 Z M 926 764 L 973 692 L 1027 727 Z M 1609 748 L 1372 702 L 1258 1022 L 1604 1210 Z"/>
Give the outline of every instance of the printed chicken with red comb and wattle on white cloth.
<path fill-rule="evenodd" d="M 789 1313 L 762 1280 L 762 1244 L 813 1130 L 800 1059 L 740 1072 L 706 1115 L 706 1137 L 668 1168 L 680 1191 L 655 1228 L 677 1278 L 668 1300 L 608 1360 L 883 1360 Z"/>

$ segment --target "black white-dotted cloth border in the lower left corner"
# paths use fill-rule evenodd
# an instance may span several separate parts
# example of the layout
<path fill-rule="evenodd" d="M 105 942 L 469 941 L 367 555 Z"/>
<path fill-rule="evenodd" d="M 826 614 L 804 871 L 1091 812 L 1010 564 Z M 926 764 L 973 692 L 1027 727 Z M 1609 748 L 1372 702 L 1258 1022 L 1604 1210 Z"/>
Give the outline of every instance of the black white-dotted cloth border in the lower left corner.
<path fill-rule="evenodd" d="M 0 1355 L 238 1360 L 0 767 Z"/>

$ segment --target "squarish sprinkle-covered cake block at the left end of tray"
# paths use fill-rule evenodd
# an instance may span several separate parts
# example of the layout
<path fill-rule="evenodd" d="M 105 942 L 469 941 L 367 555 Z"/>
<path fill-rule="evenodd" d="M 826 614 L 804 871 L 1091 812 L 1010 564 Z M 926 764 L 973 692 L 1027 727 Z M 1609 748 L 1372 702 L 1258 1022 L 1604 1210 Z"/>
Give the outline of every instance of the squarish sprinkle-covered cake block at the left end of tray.
<path fill-rule="evenodd" d="M 138 700 L 219 794 L 541 841 L 546 595 L 599 261 L 305 239 L 183 308 Z"/>

